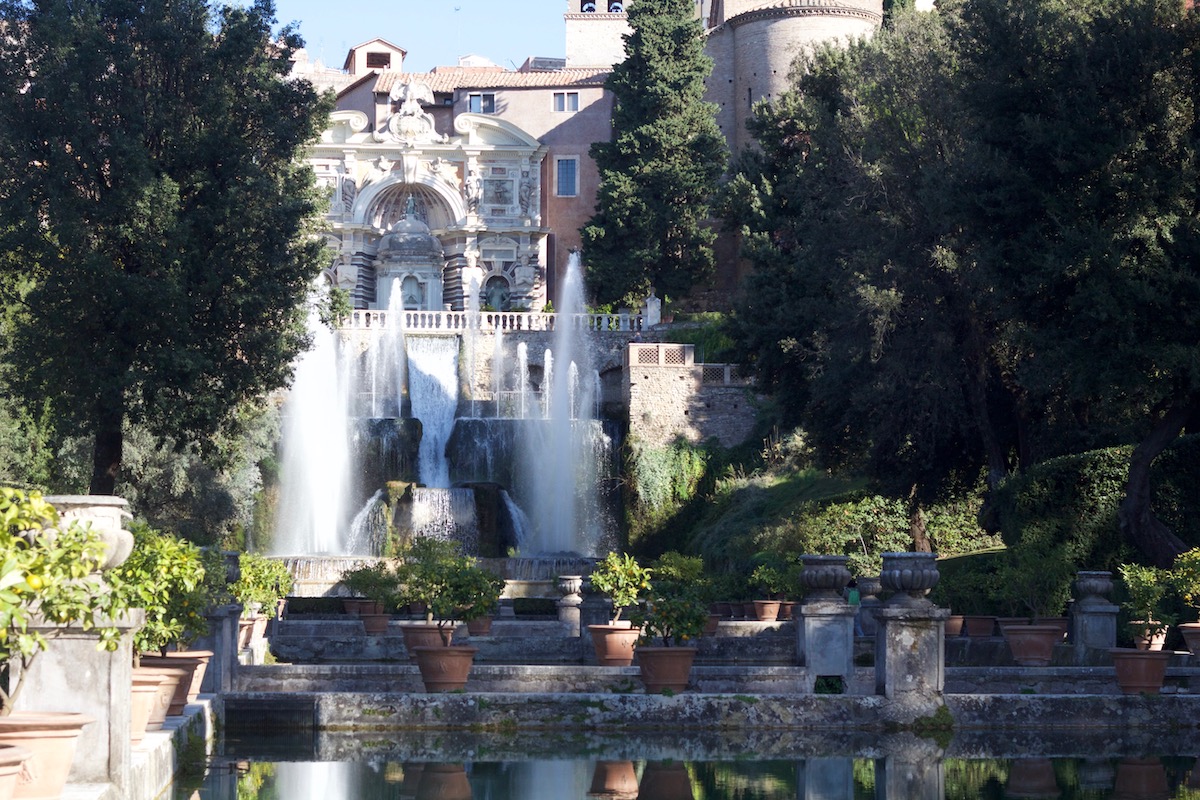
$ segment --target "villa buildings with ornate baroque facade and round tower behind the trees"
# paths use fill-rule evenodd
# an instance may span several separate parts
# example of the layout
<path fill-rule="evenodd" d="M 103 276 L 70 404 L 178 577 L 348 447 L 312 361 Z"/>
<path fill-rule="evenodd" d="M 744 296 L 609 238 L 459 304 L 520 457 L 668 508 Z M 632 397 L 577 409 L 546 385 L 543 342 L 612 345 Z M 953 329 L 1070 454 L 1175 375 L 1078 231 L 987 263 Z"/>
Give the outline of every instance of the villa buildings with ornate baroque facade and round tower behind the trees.
<path fill-rule="evenodd" d="M 624 58 L 631 2 L 565 0 L 566 58 L 515 71 L 468 56 L 406 73 L 386 40 L 352 48 L 338 71 L 301 55 L 295 74 L 337 92 L 311 160 L 330 196 L 329 276 L 356 308 L 386 308 L 396 293 L 428 311 L 553 299 L 593 212 L 588 149 L 612 133 L 604 82 Z M 736 152 L 751 144 L 754 103 L 787 89 L 797 55 L 869 36 L 882 1 L 696 0 L 696 14 L 714 62 L 708 100 Z"/>

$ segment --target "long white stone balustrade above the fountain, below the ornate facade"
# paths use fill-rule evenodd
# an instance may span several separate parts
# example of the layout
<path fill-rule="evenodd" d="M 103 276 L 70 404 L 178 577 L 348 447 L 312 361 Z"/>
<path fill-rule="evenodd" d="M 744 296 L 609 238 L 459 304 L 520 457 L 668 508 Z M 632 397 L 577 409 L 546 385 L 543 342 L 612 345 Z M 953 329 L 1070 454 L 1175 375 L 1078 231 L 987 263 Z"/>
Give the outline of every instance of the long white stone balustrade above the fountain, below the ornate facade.
<path fill-rule="evenodd" d="M 552 331 L 562 325 L 563 314 L 544 314 L 528 311 L 484 311 L 472 314 L 464 311 L 403 311 L 400 312 L 400 327 L 404 331 Z M 571 324 L 583 331 L 625 331 L 642 330 L 641 314 L 570 314 Z M 395 324 L 386 311 L 358 309 L 342 321 L 342 327 L 350 330 L 383 329 Z"/>

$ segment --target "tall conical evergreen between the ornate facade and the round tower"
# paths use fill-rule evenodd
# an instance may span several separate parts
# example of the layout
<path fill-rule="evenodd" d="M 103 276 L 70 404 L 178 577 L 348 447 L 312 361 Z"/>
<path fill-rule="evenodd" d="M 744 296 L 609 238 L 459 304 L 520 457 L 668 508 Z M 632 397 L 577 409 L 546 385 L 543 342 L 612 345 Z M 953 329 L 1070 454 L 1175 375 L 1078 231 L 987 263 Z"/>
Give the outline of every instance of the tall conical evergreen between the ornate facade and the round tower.
<path fill-rule="evenodd" d="M 592 145 L 596 212 L 582 230 L 596 301 L 635 300 L 653 287 L 680 296 L 713 271 L 706 224 L 725 170 L 725 139 L 703 101 L 712 60 L 690 0 L 630 5 L 626 58 L 613 67 L 613 138 Z"/>

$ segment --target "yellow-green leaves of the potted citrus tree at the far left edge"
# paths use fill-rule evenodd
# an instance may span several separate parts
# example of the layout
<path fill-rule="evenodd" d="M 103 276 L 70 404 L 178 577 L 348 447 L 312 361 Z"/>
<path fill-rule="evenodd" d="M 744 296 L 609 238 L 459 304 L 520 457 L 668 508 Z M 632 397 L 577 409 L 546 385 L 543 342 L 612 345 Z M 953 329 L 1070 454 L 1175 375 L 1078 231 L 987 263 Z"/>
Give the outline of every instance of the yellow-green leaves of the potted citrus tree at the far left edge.
<path fill-rule="evenodd" d="M 112 620 L 128 606 L 97 571 L 103 542 L 89 528 L 58 522 L 40 493 L 0 487 L 0 667 L 20 667 L 16 685 L 0 681 L 2 715 L 12 711 L 30 663 L 47 646 L 34 628 L 38 618 L 95 631 L 108 650 L 120 643 Z"/>

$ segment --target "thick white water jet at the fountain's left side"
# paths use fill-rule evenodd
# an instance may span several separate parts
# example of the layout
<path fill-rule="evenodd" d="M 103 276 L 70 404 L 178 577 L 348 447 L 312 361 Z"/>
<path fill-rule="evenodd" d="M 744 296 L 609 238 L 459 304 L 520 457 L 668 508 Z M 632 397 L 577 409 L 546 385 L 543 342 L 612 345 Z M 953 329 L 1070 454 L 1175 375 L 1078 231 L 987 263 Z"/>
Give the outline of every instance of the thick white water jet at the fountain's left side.
<path fill-rule="evenodd" d="M 276 555 L 344 552 L 349 494 L 346 375 L 337 333 L 308 312 L 312 349 L 301 354 L 283 404 L 280 505 L 270 551 Z"/>

